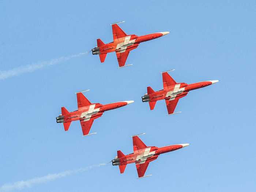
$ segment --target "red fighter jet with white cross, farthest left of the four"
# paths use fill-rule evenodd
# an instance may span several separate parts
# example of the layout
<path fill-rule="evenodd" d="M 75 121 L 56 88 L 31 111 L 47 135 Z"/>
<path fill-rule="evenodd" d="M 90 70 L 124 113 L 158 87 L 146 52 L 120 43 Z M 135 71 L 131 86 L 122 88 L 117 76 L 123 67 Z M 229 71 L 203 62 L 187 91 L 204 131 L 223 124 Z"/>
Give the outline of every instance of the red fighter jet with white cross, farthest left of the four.
<path fill-rule="evenodd" d="M 87 90 L 86 90 L 87 91 Z M 57 123 L 63 123 L 65 131 L 68 131 L 68 128 L 71 124 L 71 121 L 79 120 L 81 123 L 83 135 L 92 135 L 95 133 L 89 134 L 91 125 L 96 118 L 102 116 L 105 111 L 116 109 L 133 103 L 134 101 L 121 101 L 116 103 L 110 103 L 102 105 L 101 103 L 91 103 L 81 92 L 76 93 L 78 110 L 74 112 L 68 112 L 65 107 L 61 108 L 61 114 L 56 117 Z"/>

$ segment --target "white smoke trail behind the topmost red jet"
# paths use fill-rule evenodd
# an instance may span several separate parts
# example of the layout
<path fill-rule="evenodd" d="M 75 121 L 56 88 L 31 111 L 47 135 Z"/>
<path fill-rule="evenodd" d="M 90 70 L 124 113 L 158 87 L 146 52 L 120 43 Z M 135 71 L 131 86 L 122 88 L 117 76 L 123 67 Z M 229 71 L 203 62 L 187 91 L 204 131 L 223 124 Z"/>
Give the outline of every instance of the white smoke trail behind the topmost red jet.
<path fill-rule="evenodd" d="M 17 76 L 20 74 L 28 73 L 28 72 L 33 72 L 37 69 L 41 69 L 43 67 L 49 66 L 49 65 L 56 65 L 58 63 L 70 60 L 74 57 L 79 57 L 85 54 L 88 54 L 89 52 L 84 52 L 84 53 L 78 53 L 78 54 L 73 54 L 65 57 L 59 57 L 57 59 L 52 59 L 49 61 L 40 61 L 38 63 L 30 64 L 30 65 L 25 65 L 13 69 L 9 69 L 6 71 L 0 71 L 0 80 L 7 79 L 13 76 Z"/>

